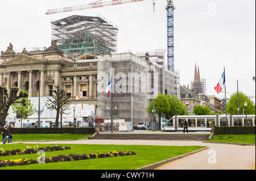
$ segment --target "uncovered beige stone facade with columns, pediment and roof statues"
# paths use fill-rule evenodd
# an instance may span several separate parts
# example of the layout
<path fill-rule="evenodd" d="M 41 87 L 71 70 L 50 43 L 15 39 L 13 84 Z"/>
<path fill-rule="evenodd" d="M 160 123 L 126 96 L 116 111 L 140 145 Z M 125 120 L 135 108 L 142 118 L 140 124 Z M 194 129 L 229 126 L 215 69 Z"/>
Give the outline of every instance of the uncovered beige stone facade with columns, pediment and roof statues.
<path fill-rule="evenodd" d="M 40 86 L 39 86 L 40 79 Z M 1 52 L 0 83 L 28 92 L 29 97 L 52 95 L 55 86 L 67 90 L 71 103 L 97 105 L 97 59 L 76 62 L 64 55 L 53 40 L 43 51 L 15 53 L 10 43 Z M 76 100 L 84 91 L 82 100 Z"/>

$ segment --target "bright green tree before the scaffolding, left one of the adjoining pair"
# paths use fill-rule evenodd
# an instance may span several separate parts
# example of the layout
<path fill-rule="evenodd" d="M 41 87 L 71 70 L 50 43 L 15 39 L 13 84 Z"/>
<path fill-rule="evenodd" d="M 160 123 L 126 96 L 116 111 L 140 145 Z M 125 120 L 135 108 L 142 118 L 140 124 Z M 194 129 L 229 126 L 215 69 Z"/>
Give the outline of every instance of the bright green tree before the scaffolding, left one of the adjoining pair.
<path fill-rule="evenodd" d="M 158 94 L 158 96 L 154 100 L 155 102 L 155 113 L 159 116 L 159 121 L 161 120 L 161 115 L 164 112 L 170 111 L 170 104 L 168 102 L 168 99 L 166 95 Z M 147 112 L 152 113 L 153 110 L 153 100 L 147 107 Z M 159 129 L 160 129 L 160 123 L 159 123 Z"/>

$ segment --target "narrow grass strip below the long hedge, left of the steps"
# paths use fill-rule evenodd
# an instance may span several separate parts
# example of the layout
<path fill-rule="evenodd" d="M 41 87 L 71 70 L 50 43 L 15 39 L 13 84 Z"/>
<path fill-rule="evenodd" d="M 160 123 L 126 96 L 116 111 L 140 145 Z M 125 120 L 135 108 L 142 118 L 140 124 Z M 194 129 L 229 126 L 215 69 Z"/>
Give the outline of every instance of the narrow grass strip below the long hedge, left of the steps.
<path fill-rule="evenodd" d="M 13 141 L 81 140 L 92 134 L 12 134 Z"/>

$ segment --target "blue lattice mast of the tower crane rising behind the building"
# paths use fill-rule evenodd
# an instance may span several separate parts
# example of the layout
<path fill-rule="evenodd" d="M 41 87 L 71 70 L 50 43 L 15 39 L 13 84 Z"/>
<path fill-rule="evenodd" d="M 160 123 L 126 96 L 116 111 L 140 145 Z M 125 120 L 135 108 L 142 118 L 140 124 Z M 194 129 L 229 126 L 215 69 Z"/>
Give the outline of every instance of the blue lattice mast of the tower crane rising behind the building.
<path fill-rule="evenodd" d="M 167 66 L 174 72 L 174 2 L 167 1 Z"/>

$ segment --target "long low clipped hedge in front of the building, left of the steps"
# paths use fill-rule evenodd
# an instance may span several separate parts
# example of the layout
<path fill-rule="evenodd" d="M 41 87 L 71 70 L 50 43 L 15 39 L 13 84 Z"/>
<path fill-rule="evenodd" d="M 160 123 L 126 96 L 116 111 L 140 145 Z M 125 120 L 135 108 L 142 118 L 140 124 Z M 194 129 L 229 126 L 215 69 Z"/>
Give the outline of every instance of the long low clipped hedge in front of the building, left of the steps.
<path fill-rule="evenodd" d="M 11 134 L 93 134 L 95 128 L 8 128 Z M 3 132 L 5 129 L 0 128 Z"/>

